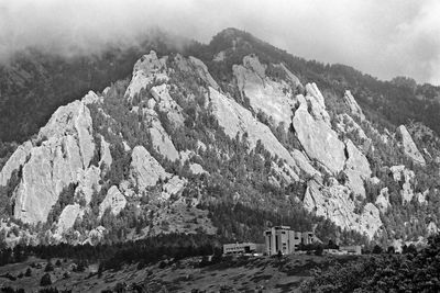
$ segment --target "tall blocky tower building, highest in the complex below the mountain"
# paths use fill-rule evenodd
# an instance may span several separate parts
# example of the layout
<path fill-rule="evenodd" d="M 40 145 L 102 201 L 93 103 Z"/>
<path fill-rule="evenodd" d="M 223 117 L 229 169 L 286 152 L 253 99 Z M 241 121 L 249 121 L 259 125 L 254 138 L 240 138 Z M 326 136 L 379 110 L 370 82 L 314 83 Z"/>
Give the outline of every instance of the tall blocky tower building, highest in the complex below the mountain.
<path fill-rule="evenodd" d="M 275 226 L 264 232 L 266 253 L 270 256 L 289 255 L 299 249 L 299 246 L 309 245 L 319 239 L 314 232 L 295 232 L 289 226 Z"/>

